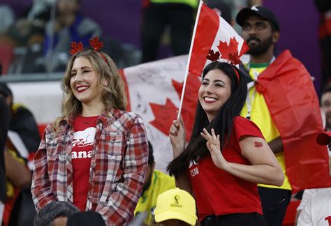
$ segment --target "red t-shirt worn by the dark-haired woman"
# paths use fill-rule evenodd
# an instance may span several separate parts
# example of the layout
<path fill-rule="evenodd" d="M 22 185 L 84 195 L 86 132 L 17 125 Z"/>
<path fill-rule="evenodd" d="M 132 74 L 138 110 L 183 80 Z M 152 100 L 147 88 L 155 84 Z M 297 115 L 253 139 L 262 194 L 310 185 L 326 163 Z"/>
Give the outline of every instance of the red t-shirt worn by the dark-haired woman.
<path fill-rule="evenodd" d="M 263 138 L 263 135 L 256 124 L 242 116 L 236 116 L 233 124 L 233 133 L 230 135 L 228 145 L 223 149 L 223 156 L 231 163 L 251 165 L 241 154 L 240 137 L 250 135 Z M 257 184 L 219 169 L 210 156 L 198 160 L 198 164 L 191 163 L 188 174 L 196 196 L 200 221 L 212 214 L 216 216 L 229 213 L 262 214 Z"/>

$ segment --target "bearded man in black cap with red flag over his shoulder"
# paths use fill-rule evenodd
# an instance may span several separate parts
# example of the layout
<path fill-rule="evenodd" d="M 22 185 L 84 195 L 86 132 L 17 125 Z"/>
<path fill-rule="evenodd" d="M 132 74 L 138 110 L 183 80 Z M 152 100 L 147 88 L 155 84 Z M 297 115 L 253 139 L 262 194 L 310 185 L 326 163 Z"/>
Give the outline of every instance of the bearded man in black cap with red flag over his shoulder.
<path fill-rule="evenodd" d="M 280 226 L 290 202 L 292 186 L 297 190 L 302 190 L 302 186 L 312 186 L 309 183 L 303 185 L 305 180 L 300 182 L 301 176 L 300 181 L 291 178 L 291 183 L 295 183 L 290 184 L 286 169 L 291 167 L 292 172 L 299 174 L 300 167 L 304 165 L 297 163 L 299 154 L 295 154 L 295 158 L 288 157 L 286 165 L 284 150 L 296 147 L 290 150 L 291 153 L 311 153 L 312 146 L 315 148 L 316 144 L 311 142 L 310 137 L 322 130 L 318 98 L 311 77 L 300 61 L 294 59 L 288 50 L 278 57 L 274 56 L 274 46 L 280 37 L 280 25 L 272 10 L 262 6 L 244 8 L 237 14 L 236 21 L 242 27 L 242 37 L 249 45 L 247 53 L 250 57 L 249 62 L 241 67 L 249 87 L 241 115 L 260 128 L 285 175 L 281 186 L 260 184 L 258 187 L 267 225 Z M 297 96 L 309 98 L 302 100 Z M 306 120 L 311 121 L 309 126 L 303 123 Z M 310 137 L 303 139 L 304 136 Z M 300 140 L 300 144 L 293 144 L 295 140 Z M 318 164 L 314 160 L 313 163 Z"/>

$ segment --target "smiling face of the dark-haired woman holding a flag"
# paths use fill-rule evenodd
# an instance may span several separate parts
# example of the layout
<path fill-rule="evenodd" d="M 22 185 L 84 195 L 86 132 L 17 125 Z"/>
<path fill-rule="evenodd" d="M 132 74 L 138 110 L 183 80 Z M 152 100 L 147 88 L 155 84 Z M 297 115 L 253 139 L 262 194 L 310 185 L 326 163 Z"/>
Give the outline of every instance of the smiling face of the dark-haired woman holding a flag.
<path fill-rule="evenodd" d="M 208 120 L 212 121 L 231 95 L 231 80 L 219 69 L 209 70 L 203 78 L 198 96 Z"/>

